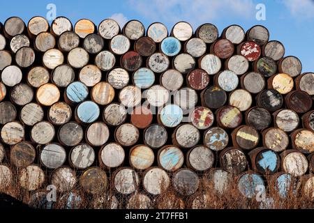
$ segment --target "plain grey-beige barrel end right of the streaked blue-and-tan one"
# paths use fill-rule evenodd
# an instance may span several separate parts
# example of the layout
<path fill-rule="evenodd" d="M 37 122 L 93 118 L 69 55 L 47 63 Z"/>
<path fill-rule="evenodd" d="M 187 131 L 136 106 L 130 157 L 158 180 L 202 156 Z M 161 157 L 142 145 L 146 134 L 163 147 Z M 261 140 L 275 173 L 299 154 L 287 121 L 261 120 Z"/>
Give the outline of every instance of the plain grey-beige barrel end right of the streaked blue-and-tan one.
<path fill-rule="evenodd" d="M 213 167 L 214 153 L 206 146 L 195 146 L 186 153 L 186 164 L 195 171 L 207 171 Z"/>

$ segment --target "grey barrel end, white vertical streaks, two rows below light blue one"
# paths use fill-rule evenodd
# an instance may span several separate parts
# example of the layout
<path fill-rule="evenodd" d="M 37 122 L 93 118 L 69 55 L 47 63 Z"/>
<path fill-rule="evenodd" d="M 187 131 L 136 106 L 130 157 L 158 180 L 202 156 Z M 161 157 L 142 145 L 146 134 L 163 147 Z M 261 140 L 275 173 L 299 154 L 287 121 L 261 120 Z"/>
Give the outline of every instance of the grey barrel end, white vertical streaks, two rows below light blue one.
<path fill-rule="evenodd" d="M 87 169 L 95 161 L 95 151 L 89 144 L 78 144 L 71 149 L 69 162 L 77 169 Z"/>

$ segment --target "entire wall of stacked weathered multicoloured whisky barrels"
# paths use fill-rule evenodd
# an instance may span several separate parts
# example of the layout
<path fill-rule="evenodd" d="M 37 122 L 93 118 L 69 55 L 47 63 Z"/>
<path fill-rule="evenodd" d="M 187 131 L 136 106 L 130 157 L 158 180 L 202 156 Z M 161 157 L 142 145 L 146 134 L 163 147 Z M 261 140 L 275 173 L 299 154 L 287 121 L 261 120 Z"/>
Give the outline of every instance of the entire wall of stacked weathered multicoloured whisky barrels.
<path fill-rule="evenodd" d="M 0 32 L 0 190 L 22 187 L 45 208 L 80 208 L 85 196 L 94 208 L 158 208 L 170 186 L 179 202 L 163 207 L 181 208 L 202 176 L 218 193 L 237 176 L 248 198 L 256 185 L 285 196 L 293 177 L 309 193 L 314 73 L 301 70 L 260 25 L 219 35 L 213 24 L 168 33 L 159 22 L 145 31 L 137 20 L 120 29 L 10 17 Z M 43 201 L 47 185 L 59 206 Z"/>

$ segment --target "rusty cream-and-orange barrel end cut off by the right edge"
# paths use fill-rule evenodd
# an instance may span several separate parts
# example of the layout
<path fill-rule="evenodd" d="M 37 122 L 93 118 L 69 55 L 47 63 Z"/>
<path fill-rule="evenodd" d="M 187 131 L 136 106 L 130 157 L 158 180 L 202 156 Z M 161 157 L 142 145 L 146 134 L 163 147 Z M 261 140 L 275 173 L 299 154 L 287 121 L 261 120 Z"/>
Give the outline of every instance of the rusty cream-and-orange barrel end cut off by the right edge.
<path fill-rule="evenodd" d="M 299 129 L 290 135 L 292 148 L 301 151 L 301 153 L 314 152 L 314 132 L 306 129 Z"/>

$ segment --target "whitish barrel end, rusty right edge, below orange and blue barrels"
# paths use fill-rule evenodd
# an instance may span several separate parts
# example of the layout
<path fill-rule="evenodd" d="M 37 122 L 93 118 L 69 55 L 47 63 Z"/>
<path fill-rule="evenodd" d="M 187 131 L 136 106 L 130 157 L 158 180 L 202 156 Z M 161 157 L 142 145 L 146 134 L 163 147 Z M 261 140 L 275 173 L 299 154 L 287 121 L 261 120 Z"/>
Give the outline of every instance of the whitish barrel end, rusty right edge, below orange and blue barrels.
<path fill-rule="evenodd" d="M 158 167 L 151 167 L 143 176 L 143 187 L 149 194 L 158 195 L 167 191 L 170 186 L 170 177 L 167 172 Z"/>

